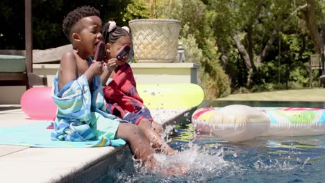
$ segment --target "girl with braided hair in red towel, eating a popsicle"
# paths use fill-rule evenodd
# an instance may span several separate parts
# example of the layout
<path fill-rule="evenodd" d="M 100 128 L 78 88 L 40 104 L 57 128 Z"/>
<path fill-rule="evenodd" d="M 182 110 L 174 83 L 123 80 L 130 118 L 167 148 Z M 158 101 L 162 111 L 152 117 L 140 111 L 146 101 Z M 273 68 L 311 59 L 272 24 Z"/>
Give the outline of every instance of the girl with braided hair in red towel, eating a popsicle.
<path fill-rule="evenodd" d="M 128 54 L 125 58 L 117 60 L 120 49 L 125 45 L 131 46 L 129 29 L 116 26 L 114 21 L 108 21 L 103 26 L 103 42 L 106 44 L 108 62 L 101 80 L 108 110 L 115 116 L 138 125 L 158 152 L 174 154 L 174 150 L 167 143 L 163 143 L 160 137 L 162 125 L 153 121 L 148 108 L 144 106 L 137 92 L 132 69 L 126 62 Z"/>

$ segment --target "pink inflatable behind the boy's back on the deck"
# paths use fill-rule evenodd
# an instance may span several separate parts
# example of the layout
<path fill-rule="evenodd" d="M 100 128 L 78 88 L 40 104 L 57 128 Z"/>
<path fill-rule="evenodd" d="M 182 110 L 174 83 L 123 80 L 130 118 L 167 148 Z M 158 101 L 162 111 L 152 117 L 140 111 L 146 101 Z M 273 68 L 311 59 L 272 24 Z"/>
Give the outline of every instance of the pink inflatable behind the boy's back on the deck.
<path fill-rule="evenodd" d="M 56 105 L 51 97 L 51 87 L 33 87 L 20 100 L 23 112 L 31 119 L 51 120 L 56 118 Z"/>

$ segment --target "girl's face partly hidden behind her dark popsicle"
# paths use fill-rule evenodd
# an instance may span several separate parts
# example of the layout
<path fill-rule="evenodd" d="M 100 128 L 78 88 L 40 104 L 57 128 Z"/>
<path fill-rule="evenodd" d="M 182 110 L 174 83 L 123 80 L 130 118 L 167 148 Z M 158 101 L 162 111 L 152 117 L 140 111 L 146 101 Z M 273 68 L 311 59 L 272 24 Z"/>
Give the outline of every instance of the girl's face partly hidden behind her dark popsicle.
<path fill-rule="evenodd" d="M 110 58 L 116 58 L 117 54 L 119 53 L 119 49 L 125 44 L 128 44 L 128 46 L 131 46 L 131 37 L 128 35 L 125 35 L 123 37 L 120 37 L 117 42 L 115 43 L 110 43 Z M 123 65 L 126 61 L 128 60 L 128 54 L 126 57 L 122 60 L 119 61 L 117 60 L 117 65 Z"/>

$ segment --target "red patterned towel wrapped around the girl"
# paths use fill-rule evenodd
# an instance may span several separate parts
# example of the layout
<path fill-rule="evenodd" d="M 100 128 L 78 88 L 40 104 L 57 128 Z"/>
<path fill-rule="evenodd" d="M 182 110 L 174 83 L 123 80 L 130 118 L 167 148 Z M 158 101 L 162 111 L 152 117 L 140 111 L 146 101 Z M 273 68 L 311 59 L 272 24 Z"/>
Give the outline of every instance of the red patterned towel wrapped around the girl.
<path fill-rule="evenodd" d="M 103 93 L 111 114 L 123 119 L 126 112 L 138 112 L 144 104 L 138 94 L 131 66 L 125 63 L 115 72 L 113 80 L 103 88 Z M 117 110 L 120 115 L 116 114 Z"/>

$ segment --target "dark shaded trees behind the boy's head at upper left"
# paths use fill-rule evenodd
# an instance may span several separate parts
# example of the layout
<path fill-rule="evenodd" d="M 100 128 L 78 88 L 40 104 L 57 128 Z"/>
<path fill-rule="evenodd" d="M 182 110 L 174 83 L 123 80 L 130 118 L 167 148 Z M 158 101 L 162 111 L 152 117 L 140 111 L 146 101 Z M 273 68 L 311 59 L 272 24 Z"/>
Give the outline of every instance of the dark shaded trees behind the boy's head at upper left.
<path fill-rule="evenodd" d="M 69 44 L 62 31 L 62 21 L 68 12 L 78 6 L 93 6 L 101 12 L 103 22 L 117 21 L 121 26 L 126 6 L 131 0 L 33 0 L 33 48 L 49 49 Z M 0 49 L 24 49 L 24 1 L 0 1 Z"/>

